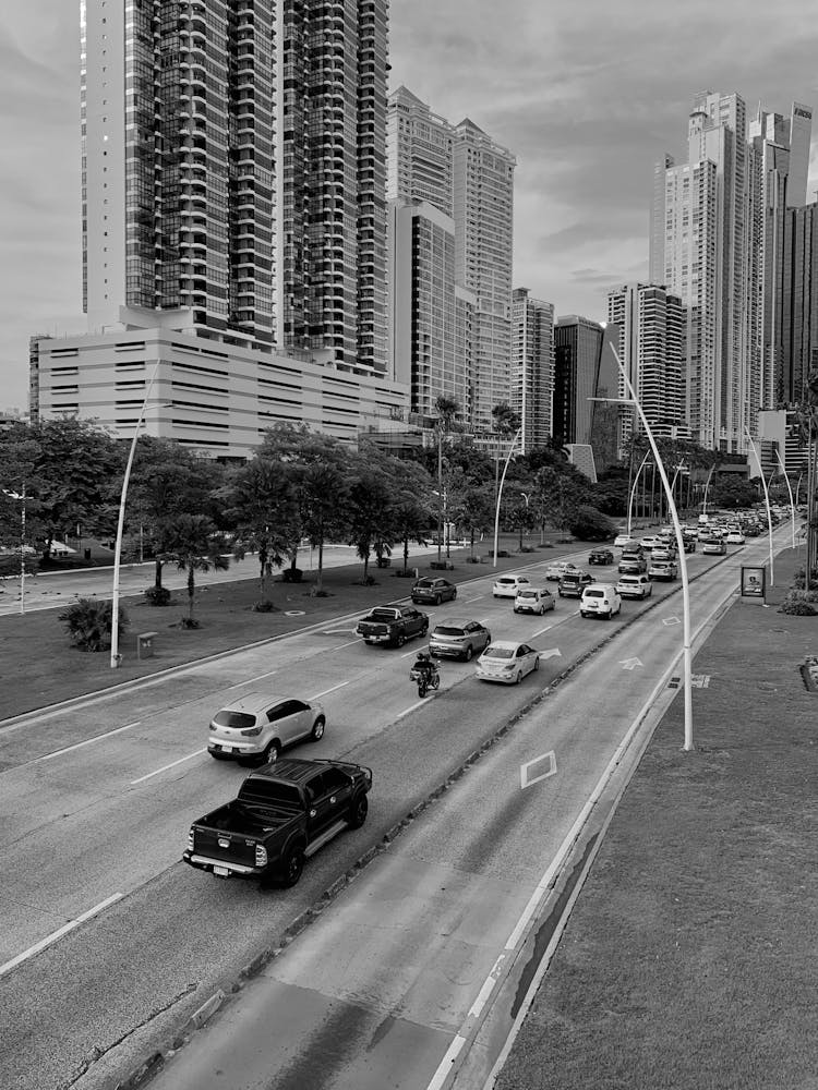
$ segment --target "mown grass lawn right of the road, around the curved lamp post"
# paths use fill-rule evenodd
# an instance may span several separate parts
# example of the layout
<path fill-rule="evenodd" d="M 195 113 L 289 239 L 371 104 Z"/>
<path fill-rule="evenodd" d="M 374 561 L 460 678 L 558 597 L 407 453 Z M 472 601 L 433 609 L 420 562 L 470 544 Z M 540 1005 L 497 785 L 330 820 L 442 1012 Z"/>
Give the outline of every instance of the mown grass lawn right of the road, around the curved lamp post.
<path fill-rule="evenodd" d="M 802 557 L 803 562 L 803 557 Z M 496 1090 L 818 1087 L 818 617 L 736 602 L 622 798 Z M 520 996 L 520 1001 L 522 996 Z"/>

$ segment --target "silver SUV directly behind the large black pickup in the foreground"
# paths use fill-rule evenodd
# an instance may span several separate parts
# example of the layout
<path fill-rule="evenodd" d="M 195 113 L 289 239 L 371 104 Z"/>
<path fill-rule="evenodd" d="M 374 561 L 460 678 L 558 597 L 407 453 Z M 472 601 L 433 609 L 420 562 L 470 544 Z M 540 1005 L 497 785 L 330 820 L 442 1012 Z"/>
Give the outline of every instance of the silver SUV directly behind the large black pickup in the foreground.
<path fill-rule="evenodd" d="M 210 719 L 207 752 L 216 761 L 267 764 L 287 746 L 316 742 L 325 726 L 324 707 L 317 701 L 248 692 Z"/>

